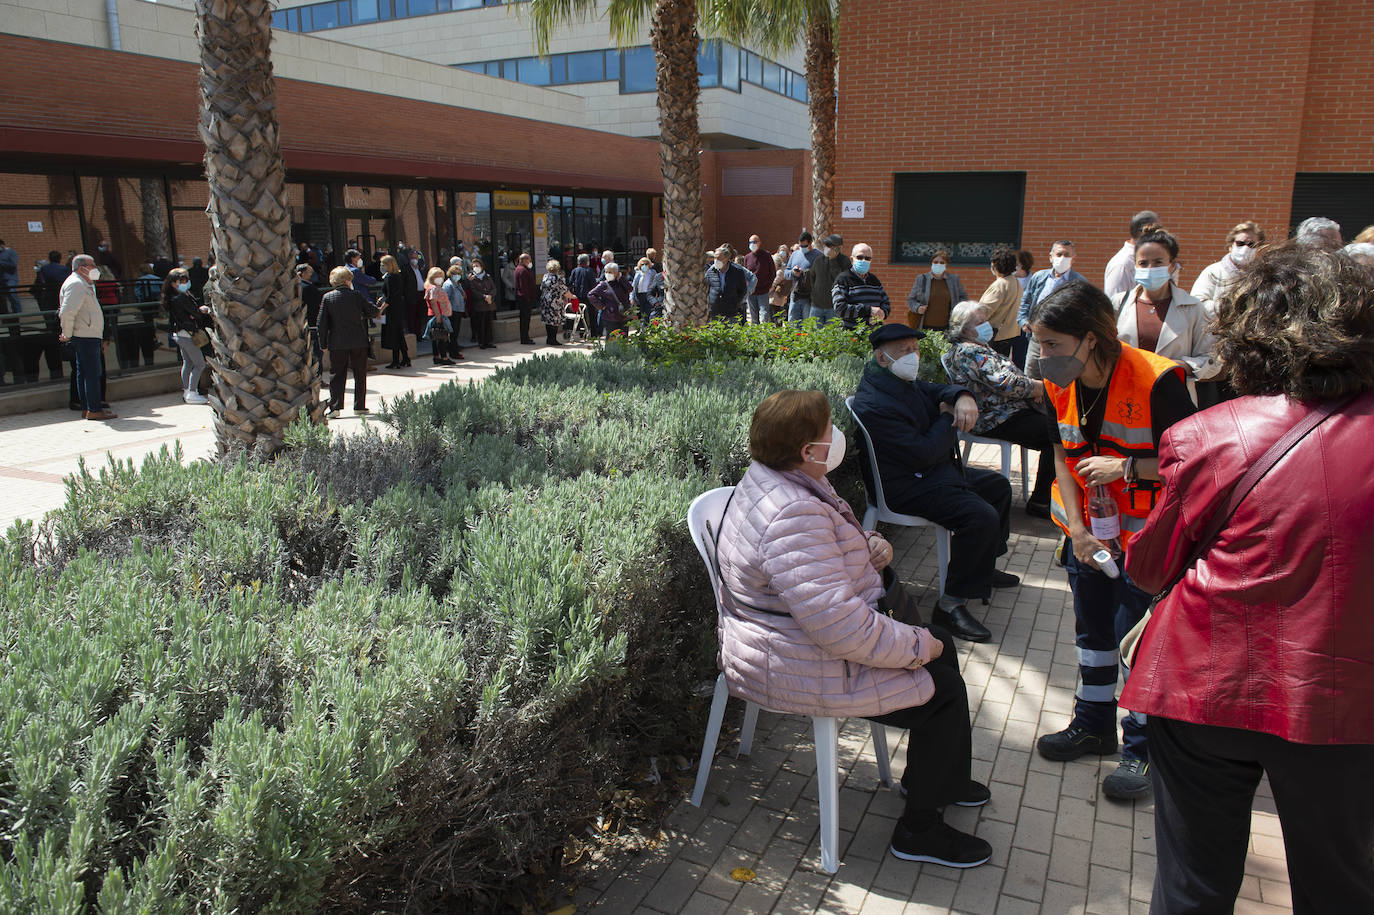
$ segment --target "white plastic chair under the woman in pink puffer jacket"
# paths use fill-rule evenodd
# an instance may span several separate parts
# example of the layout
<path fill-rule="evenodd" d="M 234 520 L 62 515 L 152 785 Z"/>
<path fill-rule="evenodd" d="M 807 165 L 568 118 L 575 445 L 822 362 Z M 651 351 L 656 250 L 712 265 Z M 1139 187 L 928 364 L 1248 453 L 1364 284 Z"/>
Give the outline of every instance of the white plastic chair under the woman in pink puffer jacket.
<path fill-rule="evenodd" d="M 716 613 L 720 613 L 720 578 L 716 576 L 714 537 L 720 533 L 720 522 L 725 517 L 725 504 L 734 486 L 721 486 L 703 492 L 692 500 L 687 510 L 687 529 L 692 543 L 706 565 L 710 589 L 716 595 Z M 725 702 L 730 699 L 730 686 L 725 675 L 716 677 L 716 694 L 710 701 L 710 717 L 706 721 L 706 738 L 701 745 L 701 762 L 697 765 L 697 784 L 692 787 L 692 806 L 701 806 L 706 794 L 706 780 L 710 778 L 710 764 L 716 757 L 716 742 L 720 739 L 720 723 L 725 717 Z M 754 741 L 754 725 L 758 723 L 758 705 L 745 703 L 745 721 L 739 730 L 739 753 L 749 756 Z M 772 710 L 772 709 L 769 709 Z M 786 714 L 779 712 L 778 714 Z M 892 767 L 888 761 L 888 732 L 883 725 L 870 721 L 872 750 L 878 757 L 878 776 L 892 787 Z M 812 735 L 816 743 L 816 782 L 820 801 L 820 866 L 827 872 L 840 870 L 840 723 L 837 719 L 811 716 Z"/>

